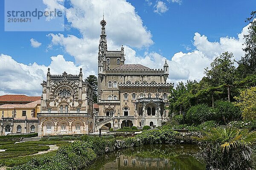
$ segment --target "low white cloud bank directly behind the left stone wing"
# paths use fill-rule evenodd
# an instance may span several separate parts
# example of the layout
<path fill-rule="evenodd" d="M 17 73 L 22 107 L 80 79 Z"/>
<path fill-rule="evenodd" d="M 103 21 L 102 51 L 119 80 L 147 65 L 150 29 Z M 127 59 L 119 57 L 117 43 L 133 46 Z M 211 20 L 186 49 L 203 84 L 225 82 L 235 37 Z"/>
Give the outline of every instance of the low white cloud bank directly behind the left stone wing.
<path fill-rule="evenodd" d="M 66 61 L 62 55 L 52 56 L 50 65 L 38 65 L 37 63 L 25 65 L 12 59 L 11 56 L 0 55 L 0 95 L 3 94 L 26 94 L 41 96 L 42 83 L 46 80 L 47 68 L 51 74 L 79 74 L 84 65 L 75 65 L 74 62 Z M 84 78 L 93 71 L 84 71 Z"/>

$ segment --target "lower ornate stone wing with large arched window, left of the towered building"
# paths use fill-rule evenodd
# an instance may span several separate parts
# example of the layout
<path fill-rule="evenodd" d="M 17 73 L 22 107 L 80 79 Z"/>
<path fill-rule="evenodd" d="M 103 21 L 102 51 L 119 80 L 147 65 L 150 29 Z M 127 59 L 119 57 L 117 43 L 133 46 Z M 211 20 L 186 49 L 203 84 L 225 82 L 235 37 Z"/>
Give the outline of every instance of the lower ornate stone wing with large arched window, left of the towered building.
<path fill-rule="evenodd" d="M 92 133 L 93 90 L 79 75 L 64 72 L 51 75 L 49 68 L 44 81 L 38 135 Z"/>

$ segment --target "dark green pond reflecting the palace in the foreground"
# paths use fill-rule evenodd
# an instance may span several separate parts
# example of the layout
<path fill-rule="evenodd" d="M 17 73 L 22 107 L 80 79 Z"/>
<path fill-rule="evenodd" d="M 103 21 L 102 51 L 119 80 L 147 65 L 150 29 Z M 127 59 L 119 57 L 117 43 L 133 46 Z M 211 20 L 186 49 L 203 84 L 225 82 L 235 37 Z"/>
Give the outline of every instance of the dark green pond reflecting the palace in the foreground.
<path fill-rule="evenodd" d="M 205 170 L 195 145 L 145 145 L 106 154 L 90 170 Z M 86 168 L 87 169 L 87 168 Z"/>

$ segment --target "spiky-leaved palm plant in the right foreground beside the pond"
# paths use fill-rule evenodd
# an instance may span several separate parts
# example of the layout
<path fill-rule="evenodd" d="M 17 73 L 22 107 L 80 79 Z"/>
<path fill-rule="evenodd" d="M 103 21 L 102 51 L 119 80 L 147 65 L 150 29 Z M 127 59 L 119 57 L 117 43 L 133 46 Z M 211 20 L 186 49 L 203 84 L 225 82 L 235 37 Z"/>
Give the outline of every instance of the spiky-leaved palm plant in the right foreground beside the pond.
<path fill-rule="evenodd" d="M 195 139 L 205 146 L 203 156 L 209 169 L 252 170 L 252 146 L 256 142 L 256 131 L 218 126 Z"/>

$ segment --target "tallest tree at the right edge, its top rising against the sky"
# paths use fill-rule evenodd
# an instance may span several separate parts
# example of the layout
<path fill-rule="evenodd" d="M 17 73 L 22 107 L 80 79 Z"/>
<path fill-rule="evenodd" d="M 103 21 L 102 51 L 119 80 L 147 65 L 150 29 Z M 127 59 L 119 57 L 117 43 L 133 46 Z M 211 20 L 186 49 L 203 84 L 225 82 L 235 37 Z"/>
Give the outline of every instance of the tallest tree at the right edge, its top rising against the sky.
<path fill-rule="evenodd" d="M 245 56 L 239 61 L 239 67 L 245 68 L 240 69 L 241 74 L 255 74 L 256 73 L 256 11 L 252 11 L 250 17 L 245 20 L 249 22 L 249 31 L 247 35 L 244 35 L 245 45 L 243 48 Z M 245 73 L 244 73 L 245 71 Z"/>

